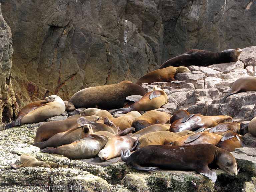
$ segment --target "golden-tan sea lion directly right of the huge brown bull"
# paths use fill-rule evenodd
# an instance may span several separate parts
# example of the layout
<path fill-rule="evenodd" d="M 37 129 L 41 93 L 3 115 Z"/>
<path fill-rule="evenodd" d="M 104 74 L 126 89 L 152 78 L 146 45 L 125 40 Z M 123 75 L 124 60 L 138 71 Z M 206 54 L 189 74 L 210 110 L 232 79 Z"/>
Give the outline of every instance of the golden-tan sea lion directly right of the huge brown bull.
<path fill-rule="evenodd" d="M 113 111 L 111 114 L 128 113 L 130 111 L 151 111 L 158 109 L 168 103 L 166 93 L 155 86 L 153 91 L 145 94 L 139 101 L 136 101 L 128 108 L 121 108 Z"/>

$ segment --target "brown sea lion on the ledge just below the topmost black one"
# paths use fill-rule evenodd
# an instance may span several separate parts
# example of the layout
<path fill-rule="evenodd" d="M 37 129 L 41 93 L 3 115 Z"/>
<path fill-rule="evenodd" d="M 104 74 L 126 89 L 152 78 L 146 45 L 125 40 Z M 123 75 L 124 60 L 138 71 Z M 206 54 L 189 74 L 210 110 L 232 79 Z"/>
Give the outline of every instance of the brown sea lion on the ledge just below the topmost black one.
<path fill-rule="evenodd" d="M 187 67 L 166 67 L 164 69 L 157 69 L 150 73 L 147 73 L 141 77 L 136 84 L 141 85 L 142 83 L 154 83 L 154 82 L 169 82 L 175 81 L 174 77 L 178 73 L 190 72 Z"/>

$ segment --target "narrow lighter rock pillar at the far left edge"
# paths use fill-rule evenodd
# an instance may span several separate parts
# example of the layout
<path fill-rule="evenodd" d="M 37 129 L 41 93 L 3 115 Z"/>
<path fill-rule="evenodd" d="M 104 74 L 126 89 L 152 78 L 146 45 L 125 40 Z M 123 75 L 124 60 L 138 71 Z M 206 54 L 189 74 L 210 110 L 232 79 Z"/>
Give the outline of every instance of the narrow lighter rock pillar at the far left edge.
<path fill-rule="evenodd" d="M 17 110 L 11 84 L 12 53 L 12 33 L 2 16 L 0 3 L 0 127 L 9 122 Z"/>

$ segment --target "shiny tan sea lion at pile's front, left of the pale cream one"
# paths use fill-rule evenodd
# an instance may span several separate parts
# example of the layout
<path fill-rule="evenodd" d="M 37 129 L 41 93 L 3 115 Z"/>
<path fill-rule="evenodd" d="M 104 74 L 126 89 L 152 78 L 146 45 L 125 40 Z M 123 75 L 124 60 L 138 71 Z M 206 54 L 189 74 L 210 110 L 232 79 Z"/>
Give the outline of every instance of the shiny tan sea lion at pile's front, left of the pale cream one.
<path fill-rule="evenodd" d="M 69 159 L 89 159 L 97 157 L 99 151 L 108 142 L 109 137 L 96 134 L 88 134 L 85 138 L 74 141 L 60 147 L 47 147 L 41 149 L 43 153 L 59 154 Z"/>

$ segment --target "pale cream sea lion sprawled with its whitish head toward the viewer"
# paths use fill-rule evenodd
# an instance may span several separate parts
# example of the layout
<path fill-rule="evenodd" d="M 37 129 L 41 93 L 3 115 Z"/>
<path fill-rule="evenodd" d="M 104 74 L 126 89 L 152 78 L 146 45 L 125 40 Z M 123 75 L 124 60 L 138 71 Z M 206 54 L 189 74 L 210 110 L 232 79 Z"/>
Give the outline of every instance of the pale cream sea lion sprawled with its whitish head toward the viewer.
<path fill-rule="evenodd" d="M 120 157 L 121 150 L 123 149 L 133 151 L 137 146 L 139 139 L 137 137 L 127 136 L 127 134 L 134 130 L 133 127 L 128 128 L 109 139 L 104 149 L 99 152 L 99 158 L 106 161 L 115 157 Z"/>

